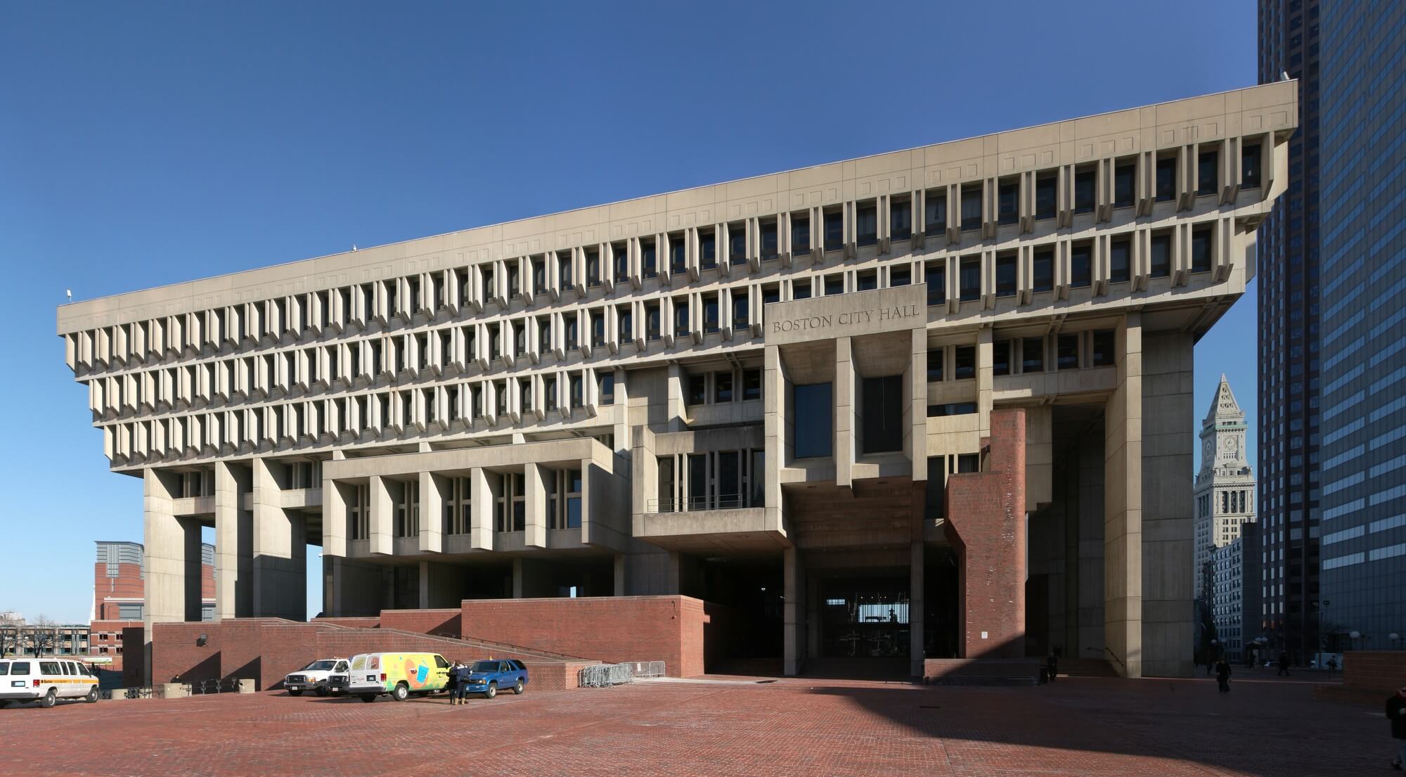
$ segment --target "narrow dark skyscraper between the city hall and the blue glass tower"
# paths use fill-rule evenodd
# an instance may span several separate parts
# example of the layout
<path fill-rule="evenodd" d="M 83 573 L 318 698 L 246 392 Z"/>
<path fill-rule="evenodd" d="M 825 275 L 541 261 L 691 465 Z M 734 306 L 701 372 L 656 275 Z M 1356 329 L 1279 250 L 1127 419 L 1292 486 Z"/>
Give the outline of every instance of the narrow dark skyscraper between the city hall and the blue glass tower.
<path fill-rule="evenodd" d="M 1317 0 L 1260 0 L 1260 83 L 1298 79 L 1289 189 L 1260 227 L 1260 638 L 1306 662 L 1319 640 Z M 1322 46 L 1322 51 L 1329 51 Z M 1256 581 L 1246 580 L 1244 586 Z M 1254 639 L 1256 614 L 1244 612 Z"/>

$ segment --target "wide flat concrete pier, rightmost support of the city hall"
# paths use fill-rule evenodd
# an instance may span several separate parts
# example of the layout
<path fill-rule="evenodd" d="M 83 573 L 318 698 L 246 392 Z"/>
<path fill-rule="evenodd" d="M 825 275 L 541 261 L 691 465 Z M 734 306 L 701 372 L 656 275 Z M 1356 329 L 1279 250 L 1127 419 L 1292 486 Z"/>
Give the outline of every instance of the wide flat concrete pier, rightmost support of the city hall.
<path fill-rule="evenodd" d="M 1142 671 L 1149 677 L 1192 670 L 1192 348 L 1189 332 L 1143 338 Z"/>

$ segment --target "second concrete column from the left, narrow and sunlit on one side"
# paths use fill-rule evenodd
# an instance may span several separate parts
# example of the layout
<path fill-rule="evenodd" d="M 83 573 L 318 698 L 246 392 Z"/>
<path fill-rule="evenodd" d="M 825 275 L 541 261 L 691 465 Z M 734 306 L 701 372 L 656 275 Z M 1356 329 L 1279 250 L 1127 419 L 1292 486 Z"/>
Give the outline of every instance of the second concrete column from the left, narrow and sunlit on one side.
<path fill-rule="evenodd" d="M 240 505 L 250 473 L 215 462 L 215 618 L 253 615 L 253 512 Z"/>

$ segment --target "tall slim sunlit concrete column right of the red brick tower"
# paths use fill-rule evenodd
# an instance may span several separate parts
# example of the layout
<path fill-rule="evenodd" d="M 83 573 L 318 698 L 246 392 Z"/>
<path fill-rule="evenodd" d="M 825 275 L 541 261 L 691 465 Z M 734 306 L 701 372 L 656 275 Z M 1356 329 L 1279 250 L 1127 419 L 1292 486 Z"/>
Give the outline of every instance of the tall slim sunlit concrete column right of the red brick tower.
<path fill-rule="evenodd" d="M 1142 677 L 1142 315 L 1128 314 L 1116 338 L 1118 387 L 1104 405 L 1104 642 L 1114 669 Z"/>

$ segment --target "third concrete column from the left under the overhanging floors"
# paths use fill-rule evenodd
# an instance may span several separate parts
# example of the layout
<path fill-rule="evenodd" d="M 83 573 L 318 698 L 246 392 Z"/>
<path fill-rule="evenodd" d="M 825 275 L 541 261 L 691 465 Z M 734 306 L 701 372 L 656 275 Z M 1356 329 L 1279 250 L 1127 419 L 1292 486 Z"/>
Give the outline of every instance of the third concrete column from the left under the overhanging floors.
<path fill-rule="evenodd" d="M 253 615 L 302 621 L 308 533 L 302 515 L 283 508 L 285 477 L 281 465 L 253 460 Z"/>

